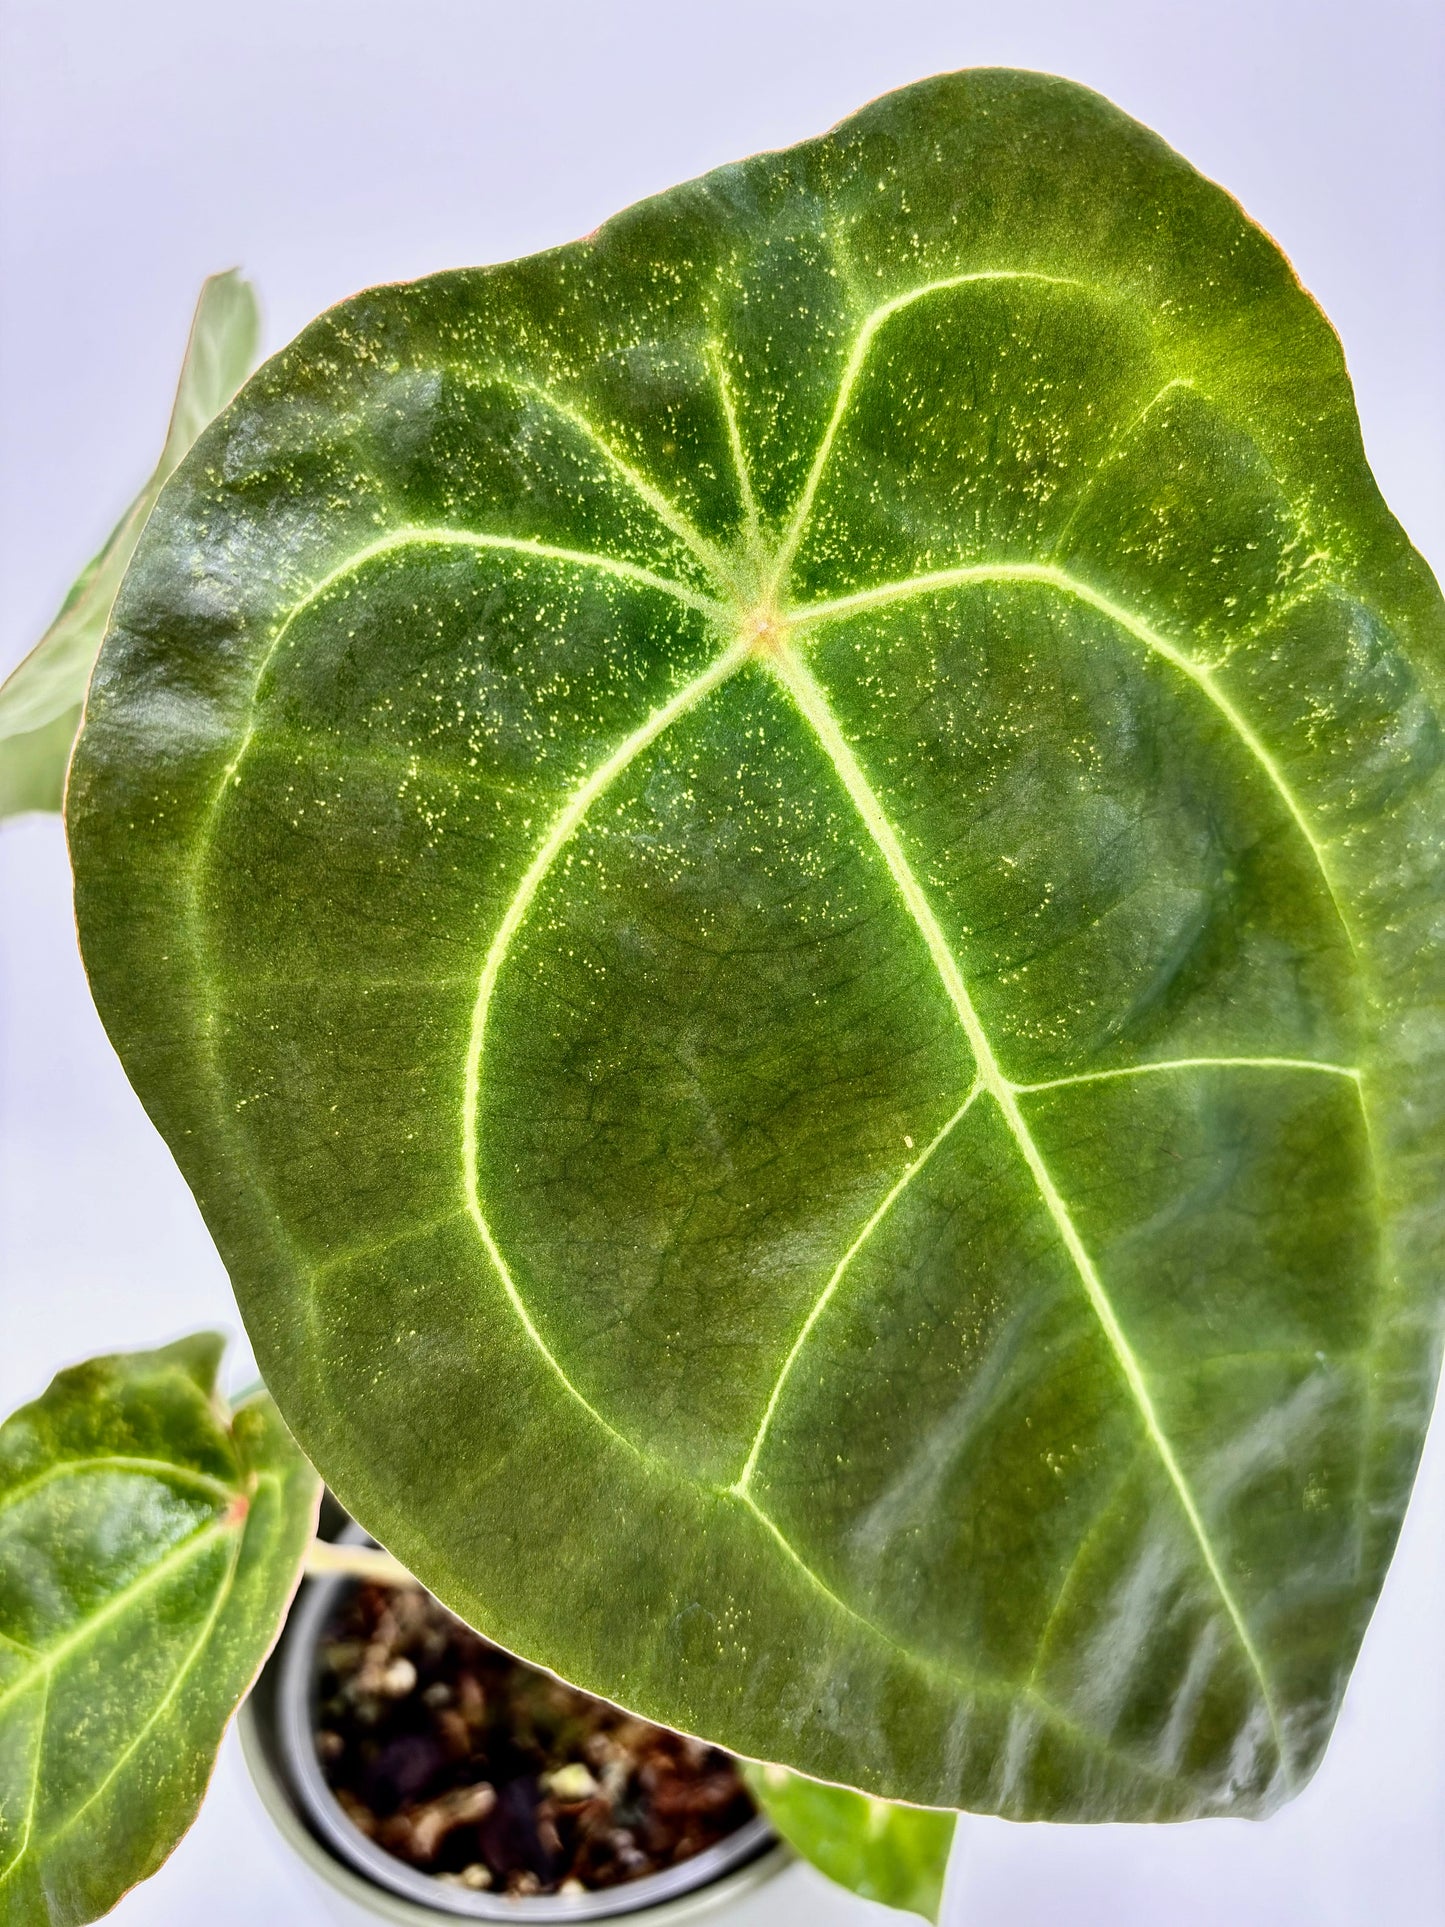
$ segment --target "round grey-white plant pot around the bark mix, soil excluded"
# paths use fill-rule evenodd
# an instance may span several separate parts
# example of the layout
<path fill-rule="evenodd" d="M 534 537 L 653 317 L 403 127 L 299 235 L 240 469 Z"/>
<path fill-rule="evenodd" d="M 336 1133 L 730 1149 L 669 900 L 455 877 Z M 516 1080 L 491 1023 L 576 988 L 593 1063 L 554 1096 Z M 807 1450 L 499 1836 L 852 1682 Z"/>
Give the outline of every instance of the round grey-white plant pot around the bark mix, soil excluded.
<path fill-rule="evenodd" d="M 366 1544 L 347 1526 L 337 1538 Z M 276 1653 L 241 1711 L 241 1746 L 262 1806 L 312 1873 L 378 1919 L 599 1921 L 644 1915 L 647 1927 L 696 1921 L 773 1879 L 792 1858 L 759 1815 L 657 1873 L 586 1894 L 509 1896 L 443 1883 L 389 1854 L 349 1817 L 316 1754 L 318 1646 L 343 1594 L 345 1574 L 306 1580 Z"/>

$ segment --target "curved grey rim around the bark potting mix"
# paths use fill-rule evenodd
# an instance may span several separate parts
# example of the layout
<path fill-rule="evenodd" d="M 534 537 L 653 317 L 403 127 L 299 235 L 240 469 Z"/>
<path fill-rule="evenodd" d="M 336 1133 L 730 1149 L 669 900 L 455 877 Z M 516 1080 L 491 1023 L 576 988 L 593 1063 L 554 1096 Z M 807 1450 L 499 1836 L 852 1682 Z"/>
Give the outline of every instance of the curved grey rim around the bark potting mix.
<path fill-rule="evenodd" d="M 337 1540 L 351 1545 L 372 1544 L 368 1534 L 355 1522 L 349 1522 L 337 1534 Z M 420 1908 L 432 1919 L 449 1915 L 453 1919 L 541 1923 L 617 1919 L 632 1914 L 647 1914 L 657 1908 L 669 1908 L 669 1914 L 672 1914 L 670 1902 L 686 1902 L 690 1896 L 697 1896 L 697 1902 L 703 1902 L 707 1888 L 717 1888 L 721 1883 L 726 1885 L 728 1892 L 734 1890 L 734 1885 L 751 1887 L 757 1879 L 775 1871 L 775 1861 L 782 1863 L 784 1856 L 778 1852 L 776 1835 L 761 1813 L 690 1860 L 665 1867 L 659 1873 L 647 1873 L 642 1879 L 624 1881 L 618 1887 L 597 1888 L 588 1894 L 518 1894 L 516 1898 L 509 1898 L 489 1890 L 453 1887 L 387 1854 L 385 1848 L 370 1840 L 345 1813 L 328 1786 L 320 1759 L 316 1757 L 312 1717 L 316 1646 L 337 1596 L 353 1584 L 356 1584 L 355 1578 L 345 1572 L 310 1578 L 293 1605 L 281 1634 L 279 1651 L 272 1661 L 276 1669 L 274 1711 L 279 1761 L 264 1759 L 264 1765 L 272 1771 L 279 1765 L 291 1782 L 289 1792 L 299 1808 L 291 1817 L 304 1829 L 308 1844 L 320 1848 L 335 1871 L 345 1867 L 366 1888 L 380 1887 L 387 1896 L 408 1904 L 408 1914 L 410 1908 Z M 254 1775 L 256 1759 L 252 1754 L 264 1754 L 260 1732 L 254 1725 L 247 1740 L 247 1755 Z M 297 1842 L 293 1840 L 293 1844 Z M 312 1856 L 308 1854 L 306 1858 Z M 339 1867 L 335 1865 L 337 1861 Z M 763 1861 L 769 1865 L 765 1867 Z M 719 1894 L 719 1898 L 722 1896 Z M 692 1914 L 692 1908 L 688 1908 L 688 1914 Z"/>

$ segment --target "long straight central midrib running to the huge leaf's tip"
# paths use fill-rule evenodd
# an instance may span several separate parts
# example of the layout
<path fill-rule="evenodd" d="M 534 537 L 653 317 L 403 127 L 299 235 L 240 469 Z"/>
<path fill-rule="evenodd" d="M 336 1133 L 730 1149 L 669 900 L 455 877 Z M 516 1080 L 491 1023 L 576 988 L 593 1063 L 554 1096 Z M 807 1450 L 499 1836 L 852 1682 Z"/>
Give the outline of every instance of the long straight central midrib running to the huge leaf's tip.
<path fill-rule="evenodd" d="M 1108 1291 L 1104 1289 L 1104 1281 L 1098 1276 L 1094 1260 L 1089 1254 L 1083 1239 L 1079 1237 L 1067 1202 L 1062 1197 L 1058 1185 L 1054 1183 L 1054 1177 L 1044 1162 L 1044 1156 L 1038 1150 L 1033 1133 L 1029 1131 L 1029 1125 L 1019 1108 L 1017 1093 L 1010 1083 L 1010 1079 L 1004 1077 L 998 1060 L 994 1058 L 992 1044 L 983 1027 L 983 1021 L 979 1019 L 977 1010 L 973 1008 L 973 998 L 969 996 L 967 985 L 963 983 L 958 960 L 954 958 L 948 940 L 938 925 L 938 919 L 934 917 L 933 908 L 927 896 L 923 894 L 917 877 L 913 875 L 913 869 L 904 854 L 902 844 L 898 842 L 898 834 L 892 823 L 888 821 L 886 811 L 882 809 L 877 794 L 873 792 L 873 786 L 863 775 L 863 767 L 854 755 L 848 738 L 838 728 L 838 723 L 832 715 L 832 707 L 828 705 L 828 700 L 821 684 L 815 680 L 813 673 L 801 661 L 801 657 L 788 647 L 775 651 L 771 663 L 778 682 L 782 682 L 782 686 L 796 701 L 800 713 L 803 715 L 813 734 L 817 736 L 825 755 L 838 773 L 842 786 L 846 788 L 854 807 L 857 809 L 863 821 L 863 827 L 867 829 L 884 863 L 888 865 L 894 884 L 898 886 L 898 892 L 904 898 L 909 915 L 913 917 L 925 944 L 929 946 L 929 956 L 933 958 L 934 969 L 938 971 L 944 989 L 948 990 L 950 1002 L 954 1004 L 963 1035 L 967 1037 L 969 1048 L 973 1050 L 979 1068 L 979 1081 L 998 1104 L 1004 1122 L 1008 1123 L 1010 1133 L 1017 1143 L 1025 1164 L 1029 1166 L 1029 1174 L 1035 1181 L 1038 1197 L 1042 1199 L 1042 1204 L 1064 1243 L 1064 1249 L 1067 1251 L 1073 1268 L 1079 1274 L 1079 1281 L 1085 1287 L 1085 1297 L 1089 1299 L 1089 1305 L 1104 1330 L 1110 1349 L 1114 1351 L 1116 1362 L 1135 1401 L 1135 1407 L 1139 1411 L 1150 1445 L 1154 1447 L 1168 1474 L 1168 1480 L 1173 1486 L 1175 1497 L 1185 1513 L 1185 1518 L 1189 1520 L 1189 1528 L 1195 1536 L 1200 1557 L 1204 1559 L 1204 1567 L 1210 1574 L 1210 1580 L 1220 1596 L 1220 1601 L 1223 1603 L 1225 1613 L 1229 1615 L 1229 1621 L 1235 1628 L 1235 1636 L 1239 1638 L 1245 1657 L 1248 1659 L 1250 1669 L 1254 1671 L 1254 1676 L 1258 1680 L 1260 1694 L 1264 1700 L 1264 1709 L 1270 1717 L 1270 1727 L 1274 1730 L 1274 1742 L 1281 1769 L 1289 1773 L 1289 1755 L 1285 1752 L 1283 1730 L 1274 1703 L 1274 1692 L 1270 1688 L 1270 1680 L 1264 1671 L 1258 1648 L 1254 1646 L 1254 1636 L 1250 1634 L 1248 1623 L 1245 1621 L 1239 1601 L 1235 1599 L 1233 1590 L 1223 1574 L 1218 1553 L 1214 1551 L 1214 1544 L 1210 1542 L 1210 1536 L 1204 1528 L 1204 1520 L 1198 1513 L 1198 1505 L 1195 1503 L 1195 1495 L 1189 1488 L 1189 1480 L 1185 1478 L 1183 1468 L 1175 1459 L 1173 1445 L 1169 1443 L 1169 1438 L 1164 1432 L 1164 1426 L 1160 1424 L 1158 1412 L 1154 1409 L 1154 1399 L 1141 1370 L 1139 1359 L 1135 1357 L 1129 1337 L 1123 1326 L 1119 1324 L 1119 1318 L 1114 1310 Z"/>

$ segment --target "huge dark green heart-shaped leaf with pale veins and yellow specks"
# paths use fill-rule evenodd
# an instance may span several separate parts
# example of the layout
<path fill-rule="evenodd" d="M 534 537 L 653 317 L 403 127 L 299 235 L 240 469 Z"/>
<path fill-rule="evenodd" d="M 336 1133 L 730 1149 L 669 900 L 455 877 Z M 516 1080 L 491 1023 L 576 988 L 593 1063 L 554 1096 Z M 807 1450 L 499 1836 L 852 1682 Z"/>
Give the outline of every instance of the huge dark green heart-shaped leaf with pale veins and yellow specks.
<path fill-rule="evenodd" d="M 1318 308 L 1065 83 L 324 316 L 69 805 L 301 1443 L 749 1757 L 1268 1809 L 1433 1391 L 1443 646 Z"/>

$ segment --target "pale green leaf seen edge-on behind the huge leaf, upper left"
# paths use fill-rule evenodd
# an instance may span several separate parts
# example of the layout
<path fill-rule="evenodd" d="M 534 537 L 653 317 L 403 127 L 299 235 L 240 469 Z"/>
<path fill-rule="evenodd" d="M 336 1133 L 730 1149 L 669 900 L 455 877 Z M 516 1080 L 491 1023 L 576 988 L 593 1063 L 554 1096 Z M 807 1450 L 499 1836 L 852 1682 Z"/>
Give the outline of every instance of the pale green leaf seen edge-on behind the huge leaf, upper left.
<path fill-rule="evenodd" d="M 60 809 L 85 688 L 135 543 L 175 464 L 250 374 L 258 339 L 250 283 L 235 268 L 212 274 L 191 320 L 154 474 L 85 565 L 56 620 L 0 684 L 0 817 Z"/>

